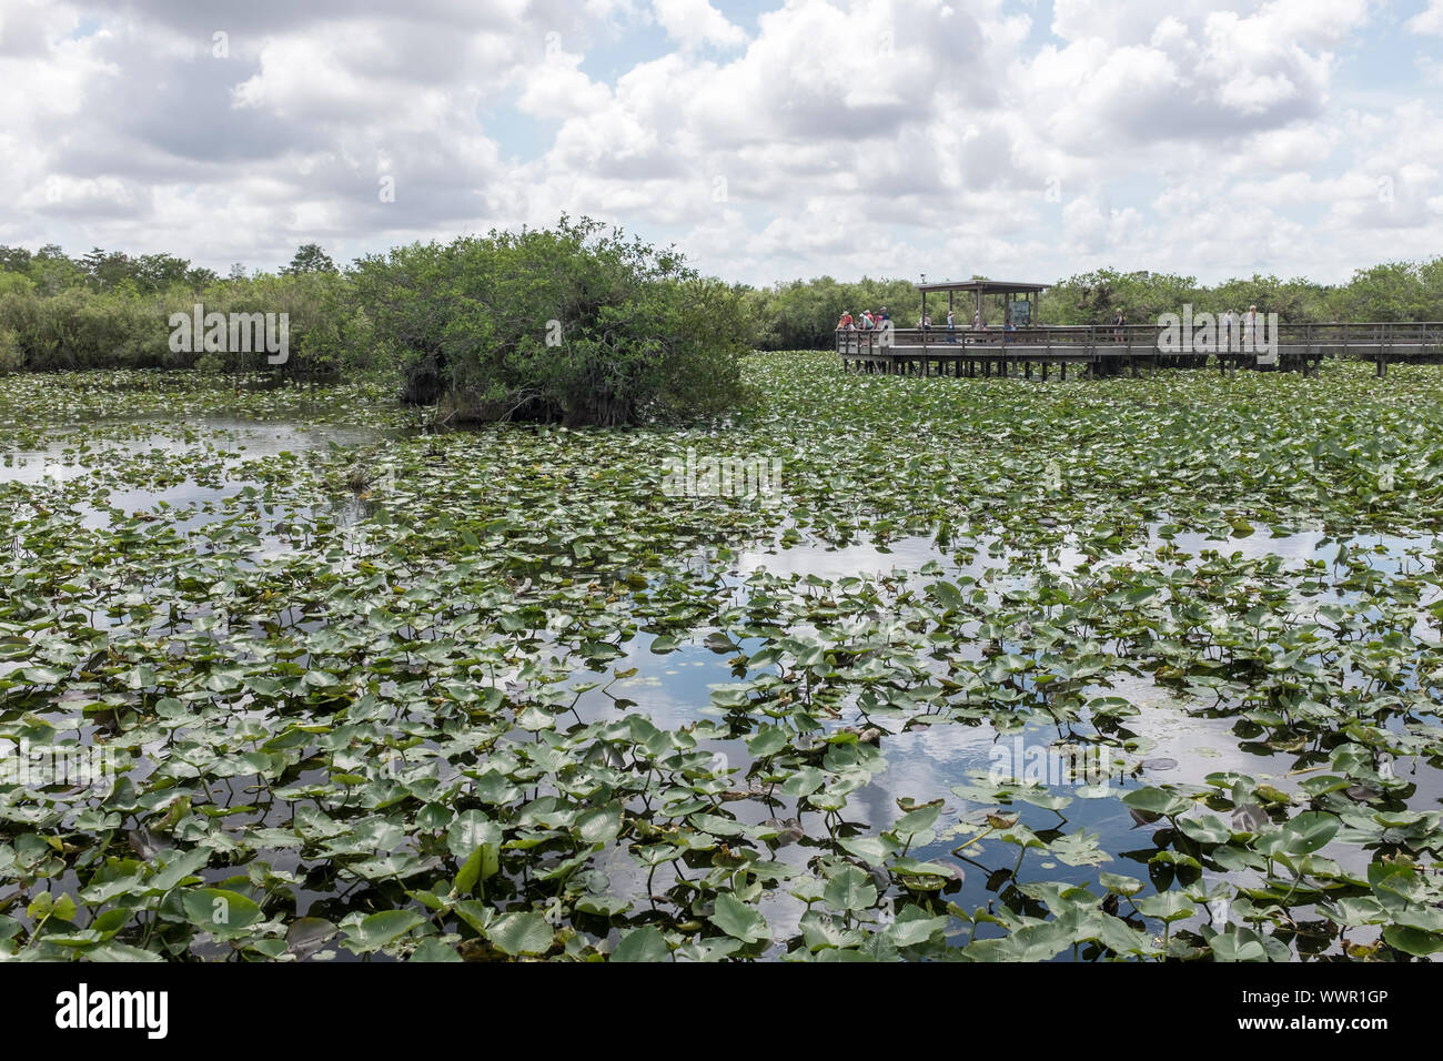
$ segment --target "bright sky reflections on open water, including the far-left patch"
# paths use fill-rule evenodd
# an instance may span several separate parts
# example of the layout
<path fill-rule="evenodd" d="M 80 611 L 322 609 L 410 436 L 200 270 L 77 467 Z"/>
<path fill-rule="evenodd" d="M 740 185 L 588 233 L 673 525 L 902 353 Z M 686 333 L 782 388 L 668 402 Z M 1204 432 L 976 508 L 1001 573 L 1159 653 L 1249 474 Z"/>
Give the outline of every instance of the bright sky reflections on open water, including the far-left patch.
<path fill-rule="evenodd" d="M 139 440 L 105 442 L 95 447 L 76 447 L 66 445 L 66 440 L 56 439 L 43 450 L 0 453 L 0 484 L 40 484 L 46 476 L 55 481 L 66 481 L 84 475 L 92 468 L 113 469 L 117 462 L 128 458 L 144 458 L 160 449 L 167 453 L 186 452 L 224 452 L 228 455 L 227 465 L 234 472 L 234 465 L 264 456 L 274 456 L 284 450 L 303 452 L 336 442 L 351 445 L 374 439 L 369 432 L 354 432 L 348 429 L 302 429 L 293 424 L 257 424 L 250 422 L 206 420 L 201 430 L 185 439 L 166 437 L 157 435 Z M 163 489 L 117 488 L 111 489 L 110 504 L 126 514 L 140 511 L 157 511 L 165 504 L 173 511 L 167 514 L 170 525 L 180 530 L 199 527 L 215 520 L 235 517 L 244 512 L 254 512 L 263 517 L 263 527 L 258 528 L 263 537 L 261 551 L 257 557 L 273 556 L 290 547 L 289 540 L 270 536 L 271 524 L 294 515 L 277 507 L 263 505 L 260 499 L 253 502 L 240 501 L 237 495 L 250 485 L 241 476 L 227 476 L 218 485 L 206 485 L 195 479 L 183 479 Z M 358 514 L 332 514 L 341 523 L 349 523 Z M 87 527 L 101 527 L 110 518 L 102 510 L 89 508 L 84 512 Z M 1172 546 L 1183 553 L 1196 557 L 1203 550 L 1216 550 L 1222 556 L 1238 554 L 1244 560 L 1278 556 L 1291 562 L 1296 567 L 1299 562 L 1307 559 L 1332 560 L 1336 554 L 1336 540 L 1322 551 L 1319 544 L 1325 540 L 1322 531 L 1299 531 L 1281 537 L 1270 537 L 1266 530 L 1260 530 L 1247 537 L 1229 537 L 1225 540 L 1206 538 L 1202 534 L 1177 534 Z M 828 547 L 817 541 L 805 541 L 792 549 L 778 549 L 766 551 L 752 549 L 742 551 L 727 582 L 739 592 L 745 593 L 746 582 L 766 576 L 778 577 L 784 582 L 802 577 L 817 577 L 825 580 L 840 580 L 844 577 L 860 577 L 872 582 L 886 580 L 890 583 L 905 583 L 916 588 L 938 577 L 955 579 L 958 575 L 981 576 L 988 567 L 1006 569 L 1007 559 L 987 554 L 988 541 L 977 543 L 975 559 L 967 562 L 952 550 L 938 549 L 931 538 L 908 537 L 900 538 L 886 547 L 874 543 L 856 543 L 843 547 Z M 1152 540 L 1136 550 L 1108 556 L 1100 562 L 1089 562 L 1075 544 L 1056 550 L 1042 566 L 1056 572 L 1075 572 L 1092 563 L 1092 569 L 1100 566 L 1123 564 L 1128 562 L 1146 560 L 1149 564 L 1160 563 L 1156 557 L 1146 557 L 1146 553 L 1163 544 L 1163 538 L 1153 528 Z M 1371 536 L 1355 538 L 1348 543 L 1355 553 L 1368 557 L 1368 563 L 1382 572 L 1394 572 L 1405 549 L 1431 549 L 1431 540 L 1405 540 L 1398 537 Z M 1377 547 L 1377 549 L 1375 549 Z M 1167 560 L 1165 563 L 1179 563 Z M 1185 563 L 1185 562 L 1183 562 Z M 931 567 L 929 567 L 931 564 Z M 928 567 L 928 573 L 922 569 Z M 1016 570 L 1025 570 L 1019 567 Z M 1019 582 L 1019 577 L 1007 579 L 1007 583 Z M 1004 580 L 994 583 L 996 590 Z M 880 595 L 886 599 L 886 595 Z M 1423 624 L 1423 621 L 1420 621 Z M 691 642 L 683 644 L 678 651 L 658 655 L 651 652 L 652 637 L 641 634 L 625 645 L 625 655 L 612 661 L 610 668 L 626 671 L 636 668 L 631 678 L 615 681 L 608 693 L 593 690 L 582 697 L 579 713 L 587 722 L 619 719 L 626 713 L 639 713 L 652 720 L 654 725 L 665 729 L 681 729 L 701 717 L 722 719 L 723 712 L 710 703 L 711 687 L 732 684 L 742 680 L 733 671 L 730 660 L 734 651 L 714 652 L 701 644 L 701 638 L 709 631 L 694 632 Z M 804 629 L 795 632 L 804 634 Z M 1420 629 L 1420 632 L 1424 632 Z M 752 654 L 760 648 L 759 641 L 749 641 L 742 645 L 743 654 Z M 975 651 L 975 645 L 961 644 L 954 650 L 957 655 L 967 655 Z M 945 664 L 939 664 L 945 665 Z M 576 680 L 595 678 L 590 671 L 577 670 Z M 1300 777 L 1290 777 L 1290 771 L 1297 765 L 1297 756 L 1287 752 L 1258 754 L 1258 745 L 1248 743 L 1234 732 L 1237 719 L 1203 717 L 1189 715 L 1182 702 L 1172 693 L 1160 689 L 1146 677 L 1130 677 L 1113 674 L 1108 684 L 1088 690 L 1088 694 L 1121 696 L 1137 704 L 1141 713 L 1123 722 L 1127 735 L 1139 739 L 1134 754 L 1127 755 L 1130 765 L 1140 765 L 1136 777 L 1113 777 L 1102 798 L 1084 798 L 1078 794 L 1075 784 L 1053 785 L 1052 790 L 1061 795 L 1072 798 L 1072 803 L 1062 808 L 1061 816 L 1027 804 L 1016 803 L 1012 810 L 1022 821 L 1035 830 L 1059 829 L 1063 833 L 1074 833 L 1087 829 L 1101 834 L 1101 849 L 1113 856 L 1113 860 L 1102 863 L 1101 869 L 1130 873 L 1147 878 L 1146 862 L 1127 857 L 1127 852 L 1146 857 L 1153 850 L 1150 840 L 1154 827 L 1137 827 L 1124 804 L 1117 798 L 1121 791 L 1143 784 L 1177 782 L 1186 785 L 1202 785 L 1209 774 L 1237 771 L 1250 774 L 1260 781 L 1268 781 L 1284 791 L 1296 791 Z M 615 699 L 632 702 L 618 706 Z M 771 725 L 771 719 L 758 716 L 753 722 Z M 970 774 L 986 772 L 991 765 L 994 745 L 1001 741 L 1012 743 L 1013 735 L 999 738 L 990 725 L 965 725 L 961 722 L 941 720 L 932 725 L 900 730 L 903 720 L 885 716 L 874 720 L 874 725 L 889 730 L 879 743 L 885 756 L 885 768 L 873 774 L 872 781 L 848 797 L 848 804 L 843 818 L 856 827 L 856 831 L 877 833 L 886 830 L 900 814 L 899 805 L 903 800 L 925 803 L 929 800 L 944 800 L 944 813 L 938 821 L 938 831 L 945 839 L 938 839 L 932 844 L 913 850 L 912 855 L 924 859 L 937 859 L 952 863 L 951 849 L 960 842 L 974 834 L 971 821 L 983 807 L 973 805 L 967 800 L 952 793 L 954 785 L 968 782 Z M 830 729 L 843 725 L 867 725 L 859 719 L 856 712 L 844 712 L 844 717 L 827 723 Z M 1089 733 L 1087 726 L 1075 726 L 1079 733 Z M 900 730 L 900 732 L 898 732 Z M 1046 748 L 1058 738 L 1055 729 L 1039 723 L 1029 723 L 1022 739 L 1027 748 Z M 707 746 L 707 751 L 726 755 L 730 765 L 736 768 L 734 788 L 747 788 L 746 769 L 749 767 L 745 742 L 727 741 Z M 1417 775 L 1410 778 L 1418 782 L 1418 793 L 1410 801 L 1418 808 L 1436 807 L 1443 794 L 1440 775 L 1429 768 L 1416 768 L 1413 764 L 1398 764 L 1400 775 L 1405 771 L 1417 769 Z M 784 846 L 773 853 L 773 857 L 801 868 L 810 857 L 823 853 L 820 844 L 827 837 L 824 816 L 818 811 L 802 810 L 797 800 L 776 797 L 772 805 L 763 800 L 750 798 L 726 804 L 726 810 L 736 814 L 743 821 L 760 823 L 768 817 L 799 817 L 805 837 L 802 842 Z M 967 852 L 988 869 L 1010 869 L 1016 859 L 1017 849 L 999 843 L 996 839 L 986 840 Z M 1367 852 L 1358 849 L 1335 850 L 1329 847 L 1329 856 L 1336 857 L 1345 866 L 1362 869 L 1367 866 Z M 613 892 L 638 898 L 638 908 L 645 905 L 642 886 L 645 872 L 638 870 L 626 855 L 625 847 L 609 850 L 602 856 L 600 868 L 613 878 Z M 1029 869 L 1032 875 L 1029 876 Z M 1098 868 L 1068 866 L 1055 862 L 1049 853 L 1029 852 L 1025 859 L 1022 879 L 1038 879 L 1038 870 L 1045 872 L 1045 879 L 1069 881 L 1075 883 L 1094 885 Z M 967 879 L 960 895 L 951 895 L 964 908 L 987 905 L 996 899 L 987 891 L 987 873 L 977 866 L 965 866 Z M 670 882 L 670 869 L 658 870 L 655 891 L 662 891 Z M 1094 885 L 1095 891 L 1095 885 Z M 789 935 L 795 931 L 797 920 L 805 912 L 805 907 L 786 895 L 785 888 L 769 891 L 762 899 L 762 908 L 778 935 Z"/>

